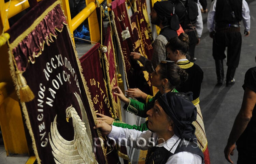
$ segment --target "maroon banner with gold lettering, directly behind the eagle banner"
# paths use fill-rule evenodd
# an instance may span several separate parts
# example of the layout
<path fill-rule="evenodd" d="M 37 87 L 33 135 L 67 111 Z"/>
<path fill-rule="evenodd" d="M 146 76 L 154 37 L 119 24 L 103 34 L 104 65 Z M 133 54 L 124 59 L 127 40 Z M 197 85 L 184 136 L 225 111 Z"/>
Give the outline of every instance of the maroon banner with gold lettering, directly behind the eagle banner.
<path fill-rule="evenodd" d="M 112 99 L 109 98 L 107 84 L 103 78 L 101 58 L 102 54 L 99 51 L 100 44 L 97 43 L 81 58 L 81 66 L 83 68 L 83 74 L 85 80 L 88 82 L 87 86 L 91 93 L 91 101 L 96 113 L 101 113 L 109 117 L 115 118 L 115 112 L 113 112 Z M 104 142 L 108 142 L 108 138 L 103 136 Z M 107 145 L 107 144 L 105 144 Z M 118 163 L 119 158 L 115 147 L 105 146 L 106 154 L 108 154 L 107 161 L 109 163 Z"/>

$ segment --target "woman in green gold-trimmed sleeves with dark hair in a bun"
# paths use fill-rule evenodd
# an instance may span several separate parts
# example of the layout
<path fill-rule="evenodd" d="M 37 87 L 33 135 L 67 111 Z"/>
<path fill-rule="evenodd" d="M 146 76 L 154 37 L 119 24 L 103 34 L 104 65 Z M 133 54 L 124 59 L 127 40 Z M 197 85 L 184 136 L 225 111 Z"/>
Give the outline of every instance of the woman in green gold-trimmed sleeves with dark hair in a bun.
<path fill-rule="evenodd" d="M 153 107 L 155 100 L 163 93 L 177 92 L 175 87 L 186 81 L 188 74 L 179 66 L 177 66 L 174 62 L 162 61 L 156 67 L 155 71 L 151 73 L 151 76 L 152 85 L 159 89 L 154 97 L 143 93 L 139 89 L 129 89 L 128 91 L 126 91 L 128 97 L 138 97 L 138 95 L 140 94 L 141 98 L 146 100 L 146 103 L 127 98 L 119 87 L 113 87 L 113 94 L 117 95 L 120 100 L 125 103 L 125 110 L 141 117 L 147 117 L 146 112 Z M 141 131 L 147 130 L 147 122 L 143 123 L 140 126 L 136 126 L 123 123 L 118 118 L 112 119 L 111 117 L 99 113 L 97 113 L 97 115 L 100 116 L 98 117 L 98 120 L 103 120 L 106 123 L 112 124 L 114 126 L 137 129 Z"/>

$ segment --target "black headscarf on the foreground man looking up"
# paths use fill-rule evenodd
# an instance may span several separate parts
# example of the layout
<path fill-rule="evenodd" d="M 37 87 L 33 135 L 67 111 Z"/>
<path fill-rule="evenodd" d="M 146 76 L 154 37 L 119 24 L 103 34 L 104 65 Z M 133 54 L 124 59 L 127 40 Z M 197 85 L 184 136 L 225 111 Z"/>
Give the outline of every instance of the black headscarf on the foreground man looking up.
<path fill-rule="evenodd" d="M 174 134 L 185 140 L 196 138 L 195 127 L 197 108 L 185 93 L 168 92 L 158 98 L 163 110 L 174 122 Z"/>

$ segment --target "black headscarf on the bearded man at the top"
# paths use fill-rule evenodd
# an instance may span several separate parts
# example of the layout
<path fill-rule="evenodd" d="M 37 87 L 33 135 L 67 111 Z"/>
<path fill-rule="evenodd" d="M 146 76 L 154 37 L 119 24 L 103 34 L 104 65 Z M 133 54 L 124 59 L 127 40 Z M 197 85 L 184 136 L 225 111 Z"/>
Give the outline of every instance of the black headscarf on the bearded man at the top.
<path fill-rule="evenodd" d="M 180 21 L 178 16 L 174 13 L 174 5 L 170 1 L 157 1 L 153 6 L 157 13 L 157 16 L 163 21 L 170 25 L 173 30 L 180 28 Z"/>

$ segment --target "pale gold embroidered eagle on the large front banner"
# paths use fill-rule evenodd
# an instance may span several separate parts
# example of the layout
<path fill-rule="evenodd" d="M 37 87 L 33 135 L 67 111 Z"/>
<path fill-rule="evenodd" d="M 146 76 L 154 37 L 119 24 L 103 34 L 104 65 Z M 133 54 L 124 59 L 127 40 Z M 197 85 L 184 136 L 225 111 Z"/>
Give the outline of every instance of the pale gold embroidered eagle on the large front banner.
<path fill-rule="evenodd" d="M 54 122 L 51 123 L 51 132 L 49 132 L 49 142 L 52 147 L 52 153 L 55 162 L 70 163 L 98 163 L 93 153 L 91 140 L 86 132 L 85 123 L 82 122 L 75 108 L 69 106 L 66 109 L 67 121 L 72 117 L 74 127 L 74 140 L 67 141 L 57 129 L 57 115 Z"/>

